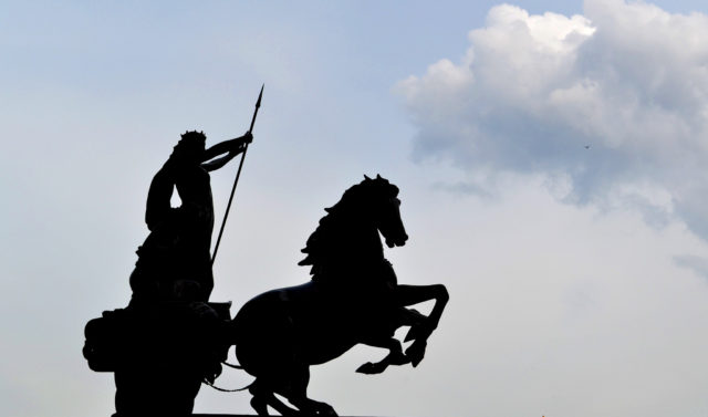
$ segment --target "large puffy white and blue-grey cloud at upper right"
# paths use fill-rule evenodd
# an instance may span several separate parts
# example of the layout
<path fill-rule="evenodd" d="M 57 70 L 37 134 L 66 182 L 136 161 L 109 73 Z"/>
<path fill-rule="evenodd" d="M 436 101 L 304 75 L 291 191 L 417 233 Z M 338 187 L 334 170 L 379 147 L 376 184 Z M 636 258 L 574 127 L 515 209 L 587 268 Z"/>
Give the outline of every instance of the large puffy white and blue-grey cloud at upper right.
<path fill-rule="evenodd" d="M 458 63 L 395 91 L 415 158 L 450 160 L 471 189 L 545 175 L 569 185 L 564 201 L 637 207 L 708 238 L 707 40 L 707 15 L 643 2 L 587 0 L 570 18 L 502 4 Z"/>

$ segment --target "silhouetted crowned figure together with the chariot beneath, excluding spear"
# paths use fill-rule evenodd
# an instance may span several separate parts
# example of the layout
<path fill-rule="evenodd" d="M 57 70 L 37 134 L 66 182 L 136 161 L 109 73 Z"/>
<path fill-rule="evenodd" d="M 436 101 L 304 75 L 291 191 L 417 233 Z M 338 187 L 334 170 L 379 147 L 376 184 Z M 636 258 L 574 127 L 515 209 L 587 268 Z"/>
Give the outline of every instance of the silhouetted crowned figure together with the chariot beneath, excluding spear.
<path fill-rule="evenodd" d="M 149 236 L 131 274 L 126 309 L 86 325 L 92 369 L 114 372 L 116 416 L 186 416 L 204 379 L 220 374 L 230 303 L 207 303 L 214 288 L 209 249 L 214 205 L 209 171 L 243 152 L 250 133 L 205 149 L 187 132 L 150 184 Z M 181 205 L 170 206 L 174 189 Z"/>

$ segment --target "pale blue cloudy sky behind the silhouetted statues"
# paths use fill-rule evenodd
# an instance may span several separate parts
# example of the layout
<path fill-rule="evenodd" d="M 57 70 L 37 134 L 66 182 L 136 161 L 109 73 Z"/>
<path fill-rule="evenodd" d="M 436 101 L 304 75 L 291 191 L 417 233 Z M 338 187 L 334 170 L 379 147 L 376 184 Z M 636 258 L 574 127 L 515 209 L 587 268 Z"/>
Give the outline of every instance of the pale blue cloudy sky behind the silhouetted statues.
<path fill-rule="evenodd" d="M 113 413 L 83 326 L 129 300 L 152 176 L 187 129 L 246 132 L 263 83 L 211 299 L 305 282 L 364 174 L 400 188 L 399 282 L 450 293 L 417 368 L 356 374 L 385 354 L 357 346 L 312 398 L 708 415 L 708 6 L 676 0 L 3 2 L 1 415 Z M 217 219 L 236 169 L 211 175 Z M 202 386 L 195 411 L 249 399 Z"/>

